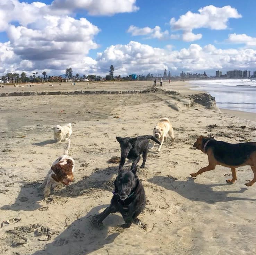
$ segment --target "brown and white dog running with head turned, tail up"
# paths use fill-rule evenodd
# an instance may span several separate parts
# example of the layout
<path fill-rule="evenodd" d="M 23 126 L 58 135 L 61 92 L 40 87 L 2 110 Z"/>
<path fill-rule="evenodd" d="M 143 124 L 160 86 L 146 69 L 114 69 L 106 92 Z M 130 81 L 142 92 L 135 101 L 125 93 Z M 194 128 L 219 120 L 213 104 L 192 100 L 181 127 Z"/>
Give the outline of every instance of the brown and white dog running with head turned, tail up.
<path fill-rule="evenodd" d="M 46 175 L 43 183 L 39 186 L 44 188 L 44 197 L 50 195 L 51 186 L 55 188 L 59 184 L 69 185 L 74 180 L 75 162 L 73 158 L 68 156 L 68 149 L 70 146 L 70 139 L 68 139 L 67 147 L 61 157 L 53 162 L 51 169 Z"/>

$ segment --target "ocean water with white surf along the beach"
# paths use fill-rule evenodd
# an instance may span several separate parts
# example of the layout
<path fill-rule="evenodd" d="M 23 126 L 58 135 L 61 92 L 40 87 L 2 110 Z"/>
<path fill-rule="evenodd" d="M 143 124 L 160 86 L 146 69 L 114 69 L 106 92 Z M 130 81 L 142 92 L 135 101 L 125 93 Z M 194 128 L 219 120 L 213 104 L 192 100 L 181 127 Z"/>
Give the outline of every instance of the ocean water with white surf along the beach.
<path fill-rule="evenodd" d="M 191 90 L 215 97 L 219 108 L 256 113 L 256 79 L 189 81 Z"/>

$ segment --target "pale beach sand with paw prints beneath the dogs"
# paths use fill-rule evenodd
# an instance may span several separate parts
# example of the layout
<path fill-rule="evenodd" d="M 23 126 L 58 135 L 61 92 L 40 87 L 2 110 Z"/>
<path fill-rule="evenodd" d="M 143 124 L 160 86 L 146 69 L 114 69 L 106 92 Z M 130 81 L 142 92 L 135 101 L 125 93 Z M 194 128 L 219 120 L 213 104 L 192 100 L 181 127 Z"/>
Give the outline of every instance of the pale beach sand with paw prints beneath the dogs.
<path fill-rule="evenodd" d="M 78 90 L 139 90 L 152 84 L 75 86 Z M 195 93 L 188 92 L 185 84 L 164 82 L 163 88 Z M 57 85 L 33 90 L 54 91 Z M 57 90 L 70 86 L 62 84 Z M 0 93 L 21 89 L 32 90 L 6 86 Z M 253 177 L 250 168 L 238 169 L 235 184 L 225 182 L 231 171 L 222 166 L 196 179 L 189 174 L 208 163 L 207 156 L 192 147 L 197 136 L 212 134 L 232 143 L 255 141 L 256 122 L 200 104 L 176 111 L 170 101 L 182 105 L 184 99 L 161 93 L 0 97 L 0 252 L 255 254 L 256 184 L 244 185 Z M 139 218 L 147 228 L 132 225 L 120 230 L 117 225 L 123 220 L 118 213 L 103 221 L 102 230 L 94 228 L 90 218 L 110 203 L 118 172 L 117 164 L 107 163 L 112 156 L 120 156 L 115 137 L 152 134 L 162 117 L 171 120 L 176 141 L 167 140 L 160 153 L 150 151 L 147 168 L 138 170 L 147 196 Z M 51 127 L 67 122 L 73 127 L 69 155 L 75 159 L 75 182 L 51 191 L 44 200 L 37 186 L 66 145 L 54 143 Z M 127 162 L 125 169 L 130 165 Z"/>

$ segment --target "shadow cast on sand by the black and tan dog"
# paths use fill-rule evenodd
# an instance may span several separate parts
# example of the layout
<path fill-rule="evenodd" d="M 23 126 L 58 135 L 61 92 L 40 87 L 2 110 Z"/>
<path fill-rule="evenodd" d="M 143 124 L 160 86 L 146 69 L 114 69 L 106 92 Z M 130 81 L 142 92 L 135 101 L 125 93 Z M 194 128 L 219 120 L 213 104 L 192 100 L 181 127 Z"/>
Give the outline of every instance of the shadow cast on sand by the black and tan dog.
<path fill-rule="evenodd" d="M 228 194 L 244 193 L 247 188 L 240 188 L 236 191 L 215 191 L 215 186 L 226 186 L 231 185 L 229 183 L 223 184 L 201 184 L 194 181 L 193 178 L 188 177 L 187 181 L 173 180 L 169 177 L 156 175 L 149 179 L 148 182 L 162 186 L 167 190 L 172 190 L 180 194 L 182 197 L 192 201 L 202 201 L 209 204 L 216 202 L 225 202 L 233 200 L 249 200 L 256 201 L 252 198 L 241 198 L 241 197 L 228 197 Z M 235 187 L 235 186 L 234 186 Z"/>

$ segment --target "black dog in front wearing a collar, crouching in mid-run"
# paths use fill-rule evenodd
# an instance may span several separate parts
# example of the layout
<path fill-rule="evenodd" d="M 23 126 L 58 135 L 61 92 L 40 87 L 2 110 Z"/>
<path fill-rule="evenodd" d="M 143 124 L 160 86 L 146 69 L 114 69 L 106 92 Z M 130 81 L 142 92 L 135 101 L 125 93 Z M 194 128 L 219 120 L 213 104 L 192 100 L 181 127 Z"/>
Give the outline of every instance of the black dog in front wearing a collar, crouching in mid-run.
<path fill-rule="evenodd" d="M 119 170 L 114 186 L 110 206 L 98 216 L 97 225 L 101 226 L 102 221 L 110 213 L 116 212 L 120 212 L 125 220 L 125 224 L 121 225 L 122 228 L 129 228 L 132 223 L 140 225 L 137 216 L 145 207 L 146 196 L 142 183 L 136 176 L 136 170 L 134 172 Z"/>

